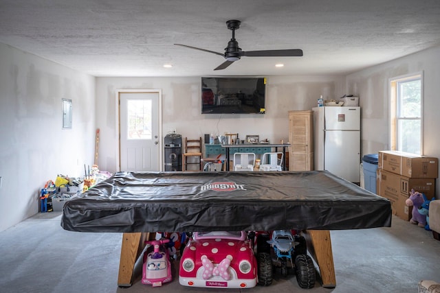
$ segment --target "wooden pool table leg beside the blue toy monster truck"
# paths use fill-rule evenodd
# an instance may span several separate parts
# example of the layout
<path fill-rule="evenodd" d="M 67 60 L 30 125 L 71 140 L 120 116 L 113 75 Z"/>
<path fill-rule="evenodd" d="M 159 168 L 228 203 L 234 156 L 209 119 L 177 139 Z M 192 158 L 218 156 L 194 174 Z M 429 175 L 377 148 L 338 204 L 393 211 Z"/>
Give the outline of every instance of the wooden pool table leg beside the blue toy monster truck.
<path fill-rule="evenodd" d="M 314 257 L 321 273 L 322 287 L 335 288 L 336 276 L 333 263 L 333 251 L 331 250 L 330 231 L 328 230 L 307 230 L 304 231 L 307 239 L 307 248 Z"/>

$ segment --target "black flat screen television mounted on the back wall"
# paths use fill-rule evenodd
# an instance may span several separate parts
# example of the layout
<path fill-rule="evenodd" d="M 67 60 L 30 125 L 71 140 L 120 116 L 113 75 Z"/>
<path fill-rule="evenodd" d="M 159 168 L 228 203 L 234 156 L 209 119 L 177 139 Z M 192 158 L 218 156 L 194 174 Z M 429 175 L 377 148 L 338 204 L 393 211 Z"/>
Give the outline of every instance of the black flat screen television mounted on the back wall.
<path fill-rule="evenodd" d="M 202 114 L 264 114 L 265 78 L 201 78 Z"/>

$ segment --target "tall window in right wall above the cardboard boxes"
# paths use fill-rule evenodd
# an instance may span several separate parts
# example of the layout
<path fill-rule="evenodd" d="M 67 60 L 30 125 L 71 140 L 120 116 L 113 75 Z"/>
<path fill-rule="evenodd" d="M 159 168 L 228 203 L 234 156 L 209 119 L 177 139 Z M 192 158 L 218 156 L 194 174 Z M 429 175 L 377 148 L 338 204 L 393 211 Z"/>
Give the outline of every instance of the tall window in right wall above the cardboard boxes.
<path fill-rule="evenodd" d="M 421 74 L 391 80 L 391 150 L 422 154 Z"/>

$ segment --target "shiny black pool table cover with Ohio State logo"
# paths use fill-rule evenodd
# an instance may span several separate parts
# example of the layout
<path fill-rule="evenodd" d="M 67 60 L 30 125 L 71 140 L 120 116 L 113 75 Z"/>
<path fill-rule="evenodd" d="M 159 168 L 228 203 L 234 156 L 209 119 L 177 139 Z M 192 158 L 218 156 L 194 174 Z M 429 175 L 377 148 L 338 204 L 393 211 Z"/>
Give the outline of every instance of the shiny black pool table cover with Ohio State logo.
<path fill-rule="evenodd" d="M 78 232 L 391 226 L 391 202 L 327 171 L 118 172 L 65 203 Z"/>

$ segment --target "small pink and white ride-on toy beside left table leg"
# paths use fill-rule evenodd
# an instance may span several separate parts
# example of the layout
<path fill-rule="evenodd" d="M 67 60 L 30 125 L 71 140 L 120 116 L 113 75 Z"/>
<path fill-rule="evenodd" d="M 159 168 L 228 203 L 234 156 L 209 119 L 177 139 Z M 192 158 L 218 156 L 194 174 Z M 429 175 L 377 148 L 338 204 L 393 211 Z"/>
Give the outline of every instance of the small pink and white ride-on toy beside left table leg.
<path fill-rule="evenodd" d="M 142 284 L 157 287 L 172 280 L 170 256 L 168 255 L 168 249 L 163 245 L 167 242 L 170 242 L 170 239 L 145 242 L 145 244 L 151 244 L 151 246 L 144 253 Z"/>

